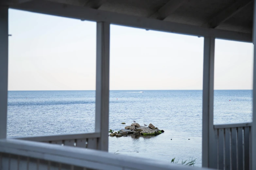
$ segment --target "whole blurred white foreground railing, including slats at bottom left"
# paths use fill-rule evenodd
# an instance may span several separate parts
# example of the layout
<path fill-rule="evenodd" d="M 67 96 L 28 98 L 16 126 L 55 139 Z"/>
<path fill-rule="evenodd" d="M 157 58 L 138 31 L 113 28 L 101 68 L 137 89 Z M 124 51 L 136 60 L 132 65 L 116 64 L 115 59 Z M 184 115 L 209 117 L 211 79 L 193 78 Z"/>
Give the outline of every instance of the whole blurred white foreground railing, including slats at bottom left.
<path fill-rule="evenodd" d="M 160 160 L 19 139 L 0 140 L 0 167 L 1 170 L 206 170 Z"/>

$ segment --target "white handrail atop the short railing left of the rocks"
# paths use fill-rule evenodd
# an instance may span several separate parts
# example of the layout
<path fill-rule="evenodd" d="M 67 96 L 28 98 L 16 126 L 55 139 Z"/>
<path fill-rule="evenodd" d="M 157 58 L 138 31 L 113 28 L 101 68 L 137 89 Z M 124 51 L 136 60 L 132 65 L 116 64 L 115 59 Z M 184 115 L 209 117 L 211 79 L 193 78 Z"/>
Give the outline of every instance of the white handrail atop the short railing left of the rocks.
<path fill-rule="evenodd" d="M 37 142 L 57 141 L 57 140 L 73 140 L 84 138 L 98 138 L 99 133 L 76 133 L 76 134 L 57 134 L 57 135 L 37 135 L 37 136 L 18 136 L 8 137 L 9 139 L 20 139 Z"/>

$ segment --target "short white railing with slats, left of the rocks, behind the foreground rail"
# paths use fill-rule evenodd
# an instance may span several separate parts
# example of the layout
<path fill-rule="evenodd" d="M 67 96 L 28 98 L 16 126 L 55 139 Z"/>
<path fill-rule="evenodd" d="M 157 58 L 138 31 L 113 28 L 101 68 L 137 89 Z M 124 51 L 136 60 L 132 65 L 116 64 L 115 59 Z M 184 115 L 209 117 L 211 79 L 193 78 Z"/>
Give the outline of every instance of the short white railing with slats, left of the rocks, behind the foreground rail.
<path fill-rule="evenodd" d="M 99 133 L 77 133 L 77 134 L 58 134 L 40 135 L 25 137 L 10 137 L 10 139 L 21 139 L 28 141 L 59 144 L 64 146 L 75 146 L 88 149 L 98 149 Z"/>

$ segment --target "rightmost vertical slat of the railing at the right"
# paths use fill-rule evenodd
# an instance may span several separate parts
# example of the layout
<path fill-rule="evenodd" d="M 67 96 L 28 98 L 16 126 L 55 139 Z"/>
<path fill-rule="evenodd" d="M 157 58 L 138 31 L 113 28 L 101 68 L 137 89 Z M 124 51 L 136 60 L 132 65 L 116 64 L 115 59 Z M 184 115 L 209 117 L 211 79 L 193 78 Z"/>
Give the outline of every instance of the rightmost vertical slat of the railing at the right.
<path fill-rule="evenodd" d="M 245 170 L 250 169 L 250 157 L 249 157 L 249 152 L 250 152 L 250 127 L 245 127 L 244 128 L 244 149 L 245 149 Z M 254 161 L 252 161 L 254 162 Z"/>

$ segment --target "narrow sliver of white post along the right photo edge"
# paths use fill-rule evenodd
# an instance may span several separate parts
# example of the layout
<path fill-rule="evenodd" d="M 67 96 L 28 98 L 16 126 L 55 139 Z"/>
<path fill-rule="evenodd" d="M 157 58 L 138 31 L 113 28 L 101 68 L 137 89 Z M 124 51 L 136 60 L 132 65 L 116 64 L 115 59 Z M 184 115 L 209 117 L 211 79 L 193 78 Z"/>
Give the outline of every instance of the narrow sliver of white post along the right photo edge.
<path fill-rule="evenodd" d="M 253 99 L 252 99 L 252 127 L 251 127 L 251 169 L 256 169 L 256 0 L 254 0 L 253 10 Z"/>

